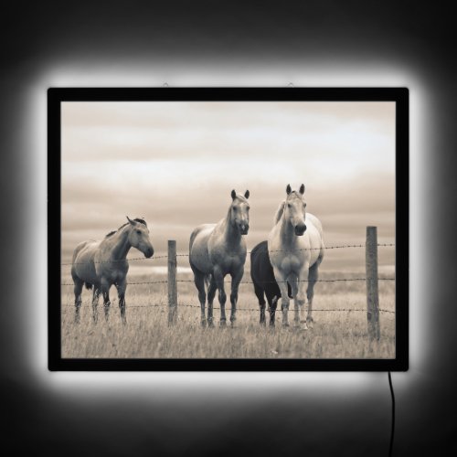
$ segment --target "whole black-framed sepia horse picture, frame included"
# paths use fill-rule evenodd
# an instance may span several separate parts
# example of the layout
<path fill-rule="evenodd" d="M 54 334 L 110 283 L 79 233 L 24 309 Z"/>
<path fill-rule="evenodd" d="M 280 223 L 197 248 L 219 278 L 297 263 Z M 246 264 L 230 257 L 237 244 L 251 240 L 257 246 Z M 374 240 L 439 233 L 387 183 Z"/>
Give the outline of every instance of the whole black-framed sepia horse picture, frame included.
<path fill-rule="evenodd" d="M 48 89 L 49 370 L 403 371 L 407 88 Z"/>

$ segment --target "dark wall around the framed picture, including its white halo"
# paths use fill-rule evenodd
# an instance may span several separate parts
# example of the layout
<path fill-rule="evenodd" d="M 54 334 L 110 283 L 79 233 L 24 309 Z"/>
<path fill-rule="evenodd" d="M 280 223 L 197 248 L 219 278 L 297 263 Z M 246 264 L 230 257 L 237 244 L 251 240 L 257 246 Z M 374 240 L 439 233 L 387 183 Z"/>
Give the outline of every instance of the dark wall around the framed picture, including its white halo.
<path fill-rule="evenodd" d="M 410 368 L 394 455 L 457 451 L 450 2 L 2 6 L 2 447 L 21 455 L 387 455 L 386 373 L 49 374 L 49 86 L 401 85 L 411 94 Z M 329 80 L 331 78 L 331 80 Z M 40 101 L 40 102 L 37 102 Z M 46 350 L 46 348 L 45 348 Z"/>

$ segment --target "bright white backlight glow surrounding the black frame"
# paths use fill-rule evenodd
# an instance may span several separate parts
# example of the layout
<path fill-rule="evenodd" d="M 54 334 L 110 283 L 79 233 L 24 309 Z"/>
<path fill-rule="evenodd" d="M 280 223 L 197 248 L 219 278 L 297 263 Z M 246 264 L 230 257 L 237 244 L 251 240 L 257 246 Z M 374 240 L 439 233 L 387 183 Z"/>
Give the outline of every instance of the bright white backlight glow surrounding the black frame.
<path fill-rule="evenodd" d="M 25 303 L 22 314 L 24 335 L 28 335 L 27 354 L 36 380 L 44 388 L 65 393 L 90 397 L 96 392 L 112 392 L 129 388 L 135 394 L 167 392 L 173 395 L 175 388 L 182 392 L 203 393 L 216 387 L 226 391 L 239 389 L 251 393 L 262 389 L 283 391 L 283 388 L 323 392 L 334 389 L 358 394 L 360 388 L 368 388 L 373 381 L 385 383 L 385 374 L 368 373 L 50 373 L 48 372 L 48 292 L 47 292 L 47 92 L 48 87 L 160 87 L 164 82 L 170 86 L 279 86 L 292 82 L 296 87 L 409 87 L 410 90 L 410 370 L 422 367 L 429 356 L 430 339 L 426 332 L 427 303 L 430 292 L 425 289 L 427 277 L 425 261 L 427 252 L 426 225 L 421 223 L 423 207 L 427 207 L 425 197 L 426 170 L 430 158 L 427 157 L 427 136 L 430 129 L 424 125 L 427 100 L 420 80 L 407 69 L 388 68 L 384 63 L 365 68 L 346 66 L 335 68 L 323 65 L 295 66 L 287 72 L 282 69 L 250 69 L 233 71 L 223 66 L 218 69 L 192 68 L 185 70 L 175 66 L 148 67 L 124 65 L 82 67 L 79 64 L 62 64 L 48 69 L 31 87 L 27 111 L 27 148 L 33 169 L 36 170 L 32 189 L 32 218 L 35 221 L 33 243 L 30 249 L 36 264 L 31 263 L 30 291 L 33 296 Z M 292 89 L 291 89 L 292 90 Z M 420 249 L 419 249 L 420 248 Z M 433 336 L 433 335 L 431 335 Z M 429 345 L 427 345 L 427 341 Z M 404 381 L 409 373 L 398 374 Z M 376 384 L 376 382 L 375 382 Z"/>

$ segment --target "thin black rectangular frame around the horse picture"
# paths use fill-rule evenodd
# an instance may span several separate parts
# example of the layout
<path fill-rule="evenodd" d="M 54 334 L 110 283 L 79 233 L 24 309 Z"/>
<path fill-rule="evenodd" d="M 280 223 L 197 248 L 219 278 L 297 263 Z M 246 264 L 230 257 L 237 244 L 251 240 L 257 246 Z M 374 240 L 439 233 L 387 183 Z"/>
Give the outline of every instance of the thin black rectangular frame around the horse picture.
<path fill-rule="evenodd" d="M 79 359 L 61 356 L 61 103 L 64 101 L 394 101 L 396 356 L 392 359 Z M 51 371 L 406 371 L 409 368 L 408 88 L 49 88 L 48 369 Z"/>

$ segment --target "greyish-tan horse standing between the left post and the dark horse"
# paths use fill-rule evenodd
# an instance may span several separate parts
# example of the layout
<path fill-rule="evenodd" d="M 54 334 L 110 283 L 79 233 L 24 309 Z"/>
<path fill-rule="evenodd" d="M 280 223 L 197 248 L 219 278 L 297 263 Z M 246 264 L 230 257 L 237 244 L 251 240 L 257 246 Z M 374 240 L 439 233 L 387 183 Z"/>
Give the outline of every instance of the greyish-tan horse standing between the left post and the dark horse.
<path fill-rule="evenodd" d="M 195 228 L 190 236 L 189 262 L 194 271 L 198 300 L 201 306 L 201 324 L 213 326 L 213 300 L 218 290 L 220 303 L 220 325 L 226 324 L 225 304 L 227 295 L 224 290 L 224 278 L 231 276 L 230 323 L 235 324 L 239 282 L 243 277 L 246 261 L 246 241 L 243 235 L 250 228 L 250 191 L 244 196 L 231 191 L 232 202 L 228 207 L 226 218 L 218 224 L 204 224 Z M 205 283 L 209 283 L 207 294 Z M 207 319 L 205 302 L 207 295 Z"/>

